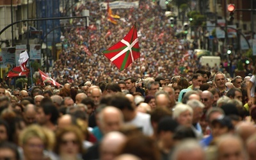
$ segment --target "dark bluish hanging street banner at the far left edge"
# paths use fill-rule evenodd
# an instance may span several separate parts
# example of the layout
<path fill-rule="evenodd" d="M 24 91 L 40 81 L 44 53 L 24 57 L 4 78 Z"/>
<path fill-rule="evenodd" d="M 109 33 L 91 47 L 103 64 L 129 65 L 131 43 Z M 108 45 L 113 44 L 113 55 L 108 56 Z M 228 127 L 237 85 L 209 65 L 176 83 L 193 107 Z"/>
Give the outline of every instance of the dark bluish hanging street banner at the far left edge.
<path fill-rule="evenodd" d="M 15 65 L 15 47 L 2 48 L 3 67 Z"/>

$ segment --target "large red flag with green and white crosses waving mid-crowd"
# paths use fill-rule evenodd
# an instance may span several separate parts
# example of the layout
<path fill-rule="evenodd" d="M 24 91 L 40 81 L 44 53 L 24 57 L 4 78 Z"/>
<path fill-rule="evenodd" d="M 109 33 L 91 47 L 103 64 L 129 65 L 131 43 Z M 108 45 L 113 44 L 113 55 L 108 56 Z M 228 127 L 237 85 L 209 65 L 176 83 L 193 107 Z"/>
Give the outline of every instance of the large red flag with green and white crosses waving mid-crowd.
<path fill-rule="evenodd" d="M 140 46 L 136 25 L 117 44 L 103 52 L 104 56 L 116 65 L 119 70 L 129 67 L 136 59 L 140 58 Z"/>

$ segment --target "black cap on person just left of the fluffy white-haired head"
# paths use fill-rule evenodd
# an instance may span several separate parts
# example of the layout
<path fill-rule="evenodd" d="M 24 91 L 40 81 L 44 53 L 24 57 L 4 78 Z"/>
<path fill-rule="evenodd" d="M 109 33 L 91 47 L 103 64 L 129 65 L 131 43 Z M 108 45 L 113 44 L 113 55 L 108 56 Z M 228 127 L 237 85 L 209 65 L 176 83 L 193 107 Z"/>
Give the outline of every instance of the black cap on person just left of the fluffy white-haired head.
<path fill-rule="evenodd" d="M 165 116 L 164 118 L 161 118 L 161 120 L 158 122 L 157 132 L 161 132 L 161 131 L 175 132 L 178 126 L 179 126 L 178 122 L 173 120 L 171 116 Z"/>

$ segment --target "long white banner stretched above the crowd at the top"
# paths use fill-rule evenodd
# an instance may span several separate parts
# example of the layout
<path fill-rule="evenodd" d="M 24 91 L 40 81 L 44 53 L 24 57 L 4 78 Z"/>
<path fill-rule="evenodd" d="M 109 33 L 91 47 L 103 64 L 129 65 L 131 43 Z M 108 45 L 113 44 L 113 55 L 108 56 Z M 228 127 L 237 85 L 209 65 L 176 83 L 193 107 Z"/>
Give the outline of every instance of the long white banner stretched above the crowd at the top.
<path fill-rule="evenodd" d="M 109 3 L 109 7 L 111 9 L 119 9 L 119 8 L 139 8 L 140 1 L 134 2 L 125 2 L 125 1 L 114 1 Z M 100 10 L 107 10 L 108 3 L 100 3 Z"/>

